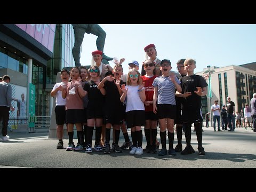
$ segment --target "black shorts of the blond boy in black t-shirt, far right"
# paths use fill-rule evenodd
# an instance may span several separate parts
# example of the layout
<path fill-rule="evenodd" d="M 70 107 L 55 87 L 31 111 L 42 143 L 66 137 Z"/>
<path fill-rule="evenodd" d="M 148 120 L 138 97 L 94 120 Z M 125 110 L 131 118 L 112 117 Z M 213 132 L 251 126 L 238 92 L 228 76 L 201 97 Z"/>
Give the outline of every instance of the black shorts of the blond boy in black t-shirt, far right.
<path fill-rule="evenodd" d="M 199 123 L 203 121 L 201 107 L 188 107 L 181 110 L 181 121 L 183 123 Z"/>

